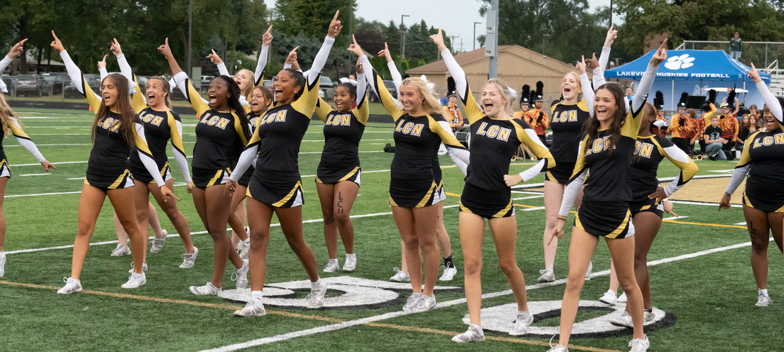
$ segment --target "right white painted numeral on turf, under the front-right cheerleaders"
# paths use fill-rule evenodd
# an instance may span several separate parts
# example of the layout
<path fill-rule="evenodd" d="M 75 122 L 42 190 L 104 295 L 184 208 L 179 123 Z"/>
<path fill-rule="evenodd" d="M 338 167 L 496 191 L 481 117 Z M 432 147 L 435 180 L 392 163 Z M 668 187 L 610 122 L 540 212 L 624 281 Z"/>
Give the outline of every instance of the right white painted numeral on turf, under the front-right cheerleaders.
<path fill-rule="evenodd" d="M 586 312 L 591 310 L 593 316 L 583 321 L 575 321 L 572 328 L 572 337 L 579 339 L 594 339 L 599 337 L 630 336 L 631 328 L 622 328 L 610 324 L 610 319 L 621 316 L 626 304 L 617 303 L 614 306 L 598 301 L 581 300 L 579 311 Z M 534 322 L 528 328 L 526 337 L 541 337 L 549 339 L 551 336 L 558 335 L 560 327 L 556 325 L 556 319 L 561 317 L 561 301 L 528 301 L 528 311 L 534 314 Z M 481 325 L 486 330 L 508 333 L 514 328 L 514 316 L 517 314 L 517 303 L 503 304 L 496 307 L 482 308 Z M 580 314 L 580 313 L 579 313 Z M 579 318 L 578 314 L 578 318 Z M 653 308 L 654 318 L 645 323 L 645 332 L 652 332 L 660 328 L 669 328 L 675 325 L 675 316 L 663 310 Z M 553 319 L 554 326 L 546 326 L 546 320 Z M 463 317 L 463 322 L 470 324 L 468 314 Z"/>

